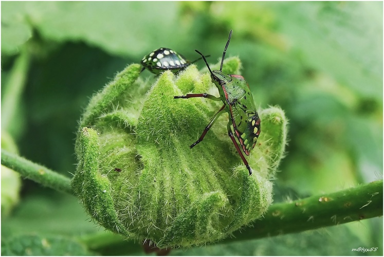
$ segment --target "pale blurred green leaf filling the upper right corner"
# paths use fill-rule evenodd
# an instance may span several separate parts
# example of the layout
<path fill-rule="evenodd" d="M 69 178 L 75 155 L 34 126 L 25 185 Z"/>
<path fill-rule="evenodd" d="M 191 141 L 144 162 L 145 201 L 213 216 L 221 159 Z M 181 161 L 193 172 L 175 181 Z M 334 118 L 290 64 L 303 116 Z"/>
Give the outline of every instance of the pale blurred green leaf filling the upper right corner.
<path fill-rule="evenodd" d="M 382 3 L 273 4 L 279 30 L 309 66 L 356 93 L 382 99 Z"/>

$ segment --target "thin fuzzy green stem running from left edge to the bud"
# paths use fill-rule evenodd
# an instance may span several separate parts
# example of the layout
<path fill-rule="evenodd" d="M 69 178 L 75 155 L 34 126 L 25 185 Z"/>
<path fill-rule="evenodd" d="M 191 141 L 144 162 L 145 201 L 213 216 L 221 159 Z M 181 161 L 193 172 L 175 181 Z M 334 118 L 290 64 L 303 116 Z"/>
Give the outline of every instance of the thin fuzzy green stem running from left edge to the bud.
<path fill-rule="evenodd" d="M 45 187 L 73 194 L 69 178 L 3 149 L 2 165 Z"/>

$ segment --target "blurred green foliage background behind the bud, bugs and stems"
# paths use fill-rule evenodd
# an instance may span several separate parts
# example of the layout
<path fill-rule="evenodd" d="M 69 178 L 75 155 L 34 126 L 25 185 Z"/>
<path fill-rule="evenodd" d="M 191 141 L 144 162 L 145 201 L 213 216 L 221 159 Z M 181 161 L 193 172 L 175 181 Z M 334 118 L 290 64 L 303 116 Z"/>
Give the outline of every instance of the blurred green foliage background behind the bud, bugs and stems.
<path fill-rule="evenodd" d="M 242 60 L 256 105 L 279 105 L 289 119 L 275 201 L 382 178 L 382 2 L 2 2 L 1 7 L 2 148 L 8 151 L 71 177 L 78 120 L 90 96 L 159 47 L 189 60 L 198 58 L 198 49 L 215 63 L 233 29 L 227 57 Z M 156 79 L 148 71 L 141 76 Z M 72 238 L 103 230 L 89 222 L 75 197 L 30 180 L 22 180 L 19 194 L 17 178 L 3 170 L 2 245 L 25 233 Z M 378 249 L 352 251 L 358 247 Z M 126 249 L 99 253 L 127 254 Z M 171 254 L 382 255 L 382 218 Z"/>

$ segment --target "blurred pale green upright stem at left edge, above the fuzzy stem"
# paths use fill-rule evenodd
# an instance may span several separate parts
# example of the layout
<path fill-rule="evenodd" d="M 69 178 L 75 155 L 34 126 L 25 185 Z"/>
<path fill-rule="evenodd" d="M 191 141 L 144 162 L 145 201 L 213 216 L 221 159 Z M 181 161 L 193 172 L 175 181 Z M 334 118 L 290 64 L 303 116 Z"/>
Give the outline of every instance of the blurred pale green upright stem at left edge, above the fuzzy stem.
<path fill-rule="evenodd" d="M 20 105 L 20 98 L 25 86 L 29 69 L 29 52 L 22 48 L 20 56 L 16 59 L 10 72 L 8 82 L 4 86 L 2 97 L 2 131 L 8 131 L 12 119 Z"/>

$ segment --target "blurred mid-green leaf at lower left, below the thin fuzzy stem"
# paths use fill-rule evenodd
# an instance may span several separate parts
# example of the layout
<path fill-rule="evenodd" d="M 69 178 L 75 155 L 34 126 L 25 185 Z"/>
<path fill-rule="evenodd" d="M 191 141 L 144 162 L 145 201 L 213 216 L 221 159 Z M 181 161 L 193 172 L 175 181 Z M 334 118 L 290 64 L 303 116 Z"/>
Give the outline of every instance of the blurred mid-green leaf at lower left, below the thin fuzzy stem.
<path fill-rule="evenodd" d="M 2 216 L 2 238 L 24 233 L 80 235 L 99 230 L 71 195 L 47 189 L 44 195 L 25 196 L 6 219 Z"/>

